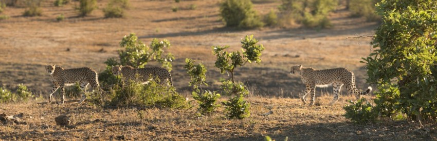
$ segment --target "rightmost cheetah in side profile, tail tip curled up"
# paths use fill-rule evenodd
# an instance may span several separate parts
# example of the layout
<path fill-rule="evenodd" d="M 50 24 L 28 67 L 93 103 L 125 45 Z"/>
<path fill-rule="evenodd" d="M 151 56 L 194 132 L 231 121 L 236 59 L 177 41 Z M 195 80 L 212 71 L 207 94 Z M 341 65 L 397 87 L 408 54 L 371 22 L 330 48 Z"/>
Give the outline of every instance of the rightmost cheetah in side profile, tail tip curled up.
<path fill-rule="evenodd" d="M 302 65 L 295 65 L 291 67 L 290 74 L 298 74 L 302 78 L 302 82 L 305 84 L 305 93 L 302 97 L 302 101 L 306 104 L 305 96 L 311 92 L 311 103 L 314 105 L 314 97 L 316 95 L 316 87 L 327 87 L 332 84 L 334 89 L 334 99 L 329 105 L 333 105 L 338 100 L 338 95 L 343 84 L 348 89 L 349 93 L 355 94 L 357 100 L 361 95 L 370 93 L 372 87 L 368 87 L 366 91 L 359 91 L 355 86 L 354 73 L 343 67 L 316 70 L 312 67 L 302 67 Z"/>

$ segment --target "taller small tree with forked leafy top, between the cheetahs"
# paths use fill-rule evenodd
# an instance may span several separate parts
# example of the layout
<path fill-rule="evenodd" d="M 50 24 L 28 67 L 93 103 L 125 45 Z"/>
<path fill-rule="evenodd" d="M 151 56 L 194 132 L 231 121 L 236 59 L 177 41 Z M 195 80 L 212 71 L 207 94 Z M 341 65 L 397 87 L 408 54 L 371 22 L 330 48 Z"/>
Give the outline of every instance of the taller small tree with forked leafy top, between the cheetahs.
<path fill-rule="evenodd" d="M 257 44 L 258 40 L 253 38 L 253 35 L 245 36 L 241 40 L 242 52 L 236 51 L 228 53 L 225 49 L 229 46 L 213 46 L 213 54 L 217 57 L 215 67 L 220 69 L 220 73 L 228 72 L 231 74 L 231 80 L 223 82 L 222 88 L 228 96 L 233 96 L 227 102 L 222 102 L 225 105 L 226 113 L 230 118 L 243 119 L 250 115 L 249 103 L 244 100 L 244 96 L 249 93 L 247 88 L 240 82 L 235 83 L 234 69 L 237 66 L 243 66 L 247 62 L 260 63 L 261 52 L 264 50 L 262 44 Z M 243 111 L 243 112 L 241 112 Z"/>

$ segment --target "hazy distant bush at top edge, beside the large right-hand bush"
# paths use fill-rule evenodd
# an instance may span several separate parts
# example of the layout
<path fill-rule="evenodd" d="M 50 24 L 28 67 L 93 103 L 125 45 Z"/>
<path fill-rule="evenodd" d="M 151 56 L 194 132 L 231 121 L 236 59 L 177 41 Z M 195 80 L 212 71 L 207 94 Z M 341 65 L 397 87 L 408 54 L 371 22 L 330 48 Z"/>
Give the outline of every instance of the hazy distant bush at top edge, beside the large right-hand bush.
<path fill-rule="evenodd" d="M 381 0 L 349 0 L 348 7 L 352 16 L 363 16 L 368 21 L 375 21 L 381 17 L 376 14 L 375 4 Z"/>

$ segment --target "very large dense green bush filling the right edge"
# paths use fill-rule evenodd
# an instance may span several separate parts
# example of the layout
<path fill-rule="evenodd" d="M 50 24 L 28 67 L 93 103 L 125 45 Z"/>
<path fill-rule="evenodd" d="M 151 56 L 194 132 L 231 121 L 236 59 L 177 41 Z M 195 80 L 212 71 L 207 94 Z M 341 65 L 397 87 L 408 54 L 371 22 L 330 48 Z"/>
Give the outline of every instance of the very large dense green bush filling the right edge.
<path fill-rule="evenodd" d="M 410 119 L 437 119 L 437 19 L 434 1 L 381 1 L 381 25 L 366 63 L 368 82 L 379 85 L 381 116 L 400 112 Z"/>

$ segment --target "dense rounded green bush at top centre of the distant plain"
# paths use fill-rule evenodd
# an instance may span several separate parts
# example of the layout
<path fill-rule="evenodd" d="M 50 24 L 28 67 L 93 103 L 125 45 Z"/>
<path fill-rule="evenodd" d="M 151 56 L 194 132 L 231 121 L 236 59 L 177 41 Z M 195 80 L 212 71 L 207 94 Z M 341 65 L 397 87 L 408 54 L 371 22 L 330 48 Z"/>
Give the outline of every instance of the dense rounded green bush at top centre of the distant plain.
<path fill-rule="evenodd" d="M 252 7 L 250 0 L 224 0 L 220 5 L 220 14 L 228 27 L 241 29 L 263 27 L 264 23 Z"/>

